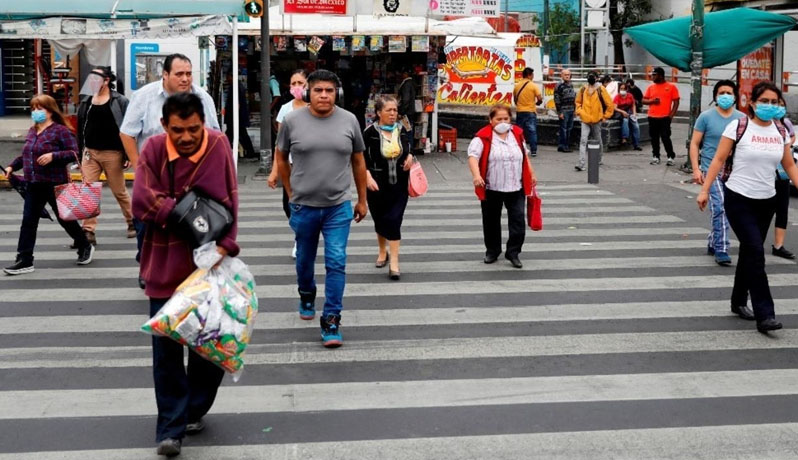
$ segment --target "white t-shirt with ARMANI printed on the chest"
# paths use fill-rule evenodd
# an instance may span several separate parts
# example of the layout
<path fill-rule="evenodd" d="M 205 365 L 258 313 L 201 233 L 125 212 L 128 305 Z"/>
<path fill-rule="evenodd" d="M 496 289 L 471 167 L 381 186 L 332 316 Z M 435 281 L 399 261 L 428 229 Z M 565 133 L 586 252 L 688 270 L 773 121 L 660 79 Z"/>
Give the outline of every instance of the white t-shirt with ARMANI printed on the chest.
<path fill-rule="evenodd" d="M 734 120 L 726 126 L 723 137 L 737 139 L 737 125 Z M 764 200 L 776 195 L 776 168 L 784 158 L 784 146 L 790 139 L 781 137 L 775 124 L 759 126 L 748 121 L 737 150 L 734 152 L 732 168 L 726 187 L 748 198 Z"/>

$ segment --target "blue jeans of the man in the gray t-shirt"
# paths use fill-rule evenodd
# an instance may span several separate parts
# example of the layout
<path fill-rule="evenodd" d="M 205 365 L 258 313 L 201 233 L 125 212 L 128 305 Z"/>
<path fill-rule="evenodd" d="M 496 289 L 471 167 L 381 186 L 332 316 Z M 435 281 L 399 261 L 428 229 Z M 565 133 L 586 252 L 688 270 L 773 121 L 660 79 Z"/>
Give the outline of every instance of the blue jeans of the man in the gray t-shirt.
<path fill-rule="evenodd" d="M 314 264 L 319 248 L 319 235 L 324 235 L 323 315 L 340 315 L 346 285 L 346 243 L 354 213 L 352 203 L 317 208 L 290 204 L 289 224 L 296 234 L 296 278 L 299 292 L 316 292 Z"/>

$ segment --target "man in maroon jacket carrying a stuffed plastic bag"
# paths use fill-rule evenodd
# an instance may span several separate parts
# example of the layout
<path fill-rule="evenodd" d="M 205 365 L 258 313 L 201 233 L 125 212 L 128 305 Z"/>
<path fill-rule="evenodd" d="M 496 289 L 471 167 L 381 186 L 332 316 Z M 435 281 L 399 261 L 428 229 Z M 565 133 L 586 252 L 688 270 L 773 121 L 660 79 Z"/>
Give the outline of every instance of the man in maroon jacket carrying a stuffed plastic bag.
<path fill-rule="evenodd" d="M 149 139 L 136 168 L 133 214 L 146 222 L 141 250 L 141 277 L 155 316 L 194 272 L 195 244 L 181 231 L 173 210 L 189 192 L 221 204 L 232 216 L 226 233 L 216 238 L 222 256 L 235 257 L 238 221 L 238 184 L 232 153 L 221 132 L 204 127 L 202 101 L 190 93 L 169 97 L 163 105 L 164 134 Z M 208 229 L 210 222 L 197 219 Z M 224 265 L 224 261 L 221 262 Z M 221 367 L 189 349 L 188 368 L 183 346 L 167 337 L 152 338 L 155 399 L 158 404 L 157 452 L 180 453 L 182 439 L 204 428 L 202 417 L 210 410 L 224 377 Z"/>

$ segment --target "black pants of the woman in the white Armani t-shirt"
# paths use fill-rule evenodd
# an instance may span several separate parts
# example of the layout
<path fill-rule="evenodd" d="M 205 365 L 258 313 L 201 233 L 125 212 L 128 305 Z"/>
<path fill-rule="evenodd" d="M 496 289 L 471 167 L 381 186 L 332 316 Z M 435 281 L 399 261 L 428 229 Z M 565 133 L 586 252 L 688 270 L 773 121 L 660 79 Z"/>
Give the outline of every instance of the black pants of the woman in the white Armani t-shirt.
<path fill-rule="evenodd" d="M 746 305 L 748 293 L 751 293 L 751 307 L 756 320 L 773 318 L 776 314 L 765 273 L 764 244 L 770 221 L 776 212 L 776 197 L 755 200 L 724 188 L 726 217 L 740 241 L 740 257 L 734 274 L 731 303 L 735 306 Z"/>

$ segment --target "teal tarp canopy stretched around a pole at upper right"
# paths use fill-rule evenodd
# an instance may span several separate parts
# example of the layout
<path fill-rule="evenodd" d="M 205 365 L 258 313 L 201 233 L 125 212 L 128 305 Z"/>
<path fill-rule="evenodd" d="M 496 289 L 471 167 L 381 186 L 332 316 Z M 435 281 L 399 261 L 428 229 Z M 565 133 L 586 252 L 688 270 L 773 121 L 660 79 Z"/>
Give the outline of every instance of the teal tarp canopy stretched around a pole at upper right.
<path fill-rule="evenodd" d="M 624 29 L 632 40 L 665 64 L 690 71 L 690 16 Z M 734 62 L 791 30 L 795 19 L 750 8 L 704 15 L 704 63 L 709 69 Z"/>

